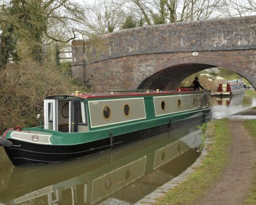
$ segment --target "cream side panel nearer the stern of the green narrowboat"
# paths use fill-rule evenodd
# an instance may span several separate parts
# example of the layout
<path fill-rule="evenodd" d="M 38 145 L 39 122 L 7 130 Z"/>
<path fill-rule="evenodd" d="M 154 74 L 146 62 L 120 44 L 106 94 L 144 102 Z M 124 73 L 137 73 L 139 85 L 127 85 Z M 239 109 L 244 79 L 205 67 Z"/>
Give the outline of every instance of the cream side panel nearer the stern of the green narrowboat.
<path fill-rule="evenodd" d="M 200 95 L 169 95 L 154 98 L 155 116 L 167 115 L 175 112 L 193 110 L 200 107 Z M 165 109 L 162 110 L 161 103 L 164 101 Z M 178 106 L 180 101 L 180 107 Z"/>

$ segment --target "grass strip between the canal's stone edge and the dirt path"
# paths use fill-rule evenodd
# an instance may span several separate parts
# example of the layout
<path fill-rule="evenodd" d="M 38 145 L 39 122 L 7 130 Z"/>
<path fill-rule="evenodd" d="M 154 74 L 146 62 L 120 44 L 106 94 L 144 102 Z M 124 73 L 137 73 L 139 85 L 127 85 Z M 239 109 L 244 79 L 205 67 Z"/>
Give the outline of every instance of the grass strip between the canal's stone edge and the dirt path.
<path fill-rule="evenodd" d="M 159 198 L 157 204 L 195 204 L 198 197 L 220 176 L 230 157 L 231 134 L 227 127 L 227 119 L 210 123 L 205 135 L 213 143 L 206 145 L 209 153 L 202 165 L 188 176 L 188 180 Z"/>

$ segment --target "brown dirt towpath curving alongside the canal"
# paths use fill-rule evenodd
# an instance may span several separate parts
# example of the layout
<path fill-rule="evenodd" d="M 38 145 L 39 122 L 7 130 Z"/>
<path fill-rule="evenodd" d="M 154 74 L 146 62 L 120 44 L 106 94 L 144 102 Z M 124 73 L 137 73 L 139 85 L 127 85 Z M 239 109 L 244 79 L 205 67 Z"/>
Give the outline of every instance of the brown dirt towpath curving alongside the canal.
<path fill-rule="evenodd" d="M 244 111 L 236 115 L 256 115 L 256 110 Z M 232 135 L 230 161 L 220 179 L 207 189 L 198 205 L 241 205 L 251 187 L 256 172 L 256 143 L 243 121 L 236 117 L 229 120 Z M 256 135 L 256 134 L 255 134 Z"/>

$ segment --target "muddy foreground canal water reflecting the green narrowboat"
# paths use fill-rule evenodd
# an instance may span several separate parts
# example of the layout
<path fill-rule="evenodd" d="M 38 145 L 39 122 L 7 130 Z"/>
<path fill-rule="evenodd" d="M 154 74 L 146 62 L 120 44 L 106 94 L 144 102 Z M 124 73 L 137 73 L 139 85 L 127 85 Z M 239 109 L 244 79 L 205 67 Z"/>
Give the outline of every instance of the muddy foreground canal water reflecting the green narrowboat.
<path fill-rule="evenodd" d="M 132 204 L 178 176 L 200 153 L 201 129 L 175 130 L 89 158 L 14 167 L 0 204 Z"/>

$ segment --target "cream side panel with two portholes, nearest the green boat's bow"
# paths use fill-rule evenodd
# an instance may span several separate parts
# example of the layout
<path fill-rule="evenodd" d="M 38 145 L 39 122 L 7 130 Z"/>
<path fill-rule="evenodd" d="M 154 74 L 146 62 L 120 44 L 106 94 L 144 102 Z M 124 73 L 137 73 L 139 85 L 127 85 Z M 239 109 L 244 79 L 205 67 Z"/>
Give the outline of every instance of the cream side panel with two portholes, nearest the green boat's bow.
<path fill-rule="evenodd" d="M 125 104 L 129 105 L 128 117 L 124 114 Z M 92 128 L 146 118 L 144 98 L 89 101 L 88 105 Z M 105 106 L 111 111 L 109 119 L 105 119 L 103 115 Z"/>

